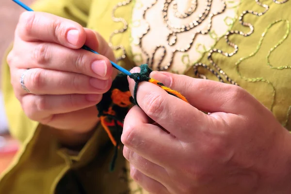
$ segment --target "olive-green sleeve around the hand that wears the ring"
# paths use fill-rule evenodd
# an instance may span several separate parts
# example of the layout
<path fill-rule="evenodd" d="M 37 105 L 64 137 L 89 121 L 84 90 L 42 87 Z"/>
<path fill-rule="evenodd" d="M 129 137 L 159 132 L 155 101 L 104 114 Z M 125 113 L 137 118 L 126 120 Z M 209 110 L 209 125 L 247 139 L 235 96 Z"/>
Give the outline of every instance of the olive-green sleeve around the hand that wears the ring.
<path fill-rule="evenodd" d="M 91 0 L 38 0 L 31 7 L 34 11 L 62 16 L 86 26 L 90 6 Z M 98 125 L 81 151 L 71 154 L 70 150 L 61 147 L 48 126 L 30 120 L 22 111 L 10 83 L 10 69 L 6 57 L 11 48 L 7 49 L 1 66 L 1 90 L 10 133 L 20 141 L 21 146 L 10 167 L 0 175 L 0 193 L 22 193 L 23 189 L 33 190 L 31 193 L 53 193 L 53 189 L 68 169 L 92 160 L 103 142 L 108 142 L 108 137 L 104 136 L 102 126 Z M 45 178 L 43 175 L 46 175 Z M 26 181 L 40 184 L 29 188 L 30 185 L 23 185 Z"/>

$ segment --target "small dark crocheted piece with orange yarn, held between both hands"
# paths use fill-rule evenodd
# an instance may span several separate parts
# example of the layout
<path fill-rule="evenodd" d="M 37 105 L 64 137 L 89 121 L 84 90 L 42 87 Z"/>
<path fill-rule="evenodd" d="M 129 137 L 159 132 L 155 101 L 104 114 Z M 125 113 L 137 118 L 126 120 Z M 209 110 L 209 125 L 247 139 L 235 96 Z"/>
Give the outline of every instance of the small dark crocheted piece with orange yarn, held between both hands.
<path fill-rule="evenodd" d="M 113 161 L 110 165 L 111 171 L 114 169 L 117 151 L 121 143 L 120 138 L 123 130 L 123 120 L 126 114 L 129 112 L 129 109 L 134 104 L 138 105 L 136 96 L 139 82 L 151 82 L 161 87 L 168 94 L 188 102 L 187 99 L 177 91 L 164 86 L 157 80 L 149 78 L 149 74 L 152 72 L 152 70 L 148 68 L 146 64 L 141 65 L 140 68 L 140 73 L 132 73 L 129 76 L 135 81 L 133 98 L 131 97 L 129 91 L 127 75 L 118 74 L 112 83 L 111 89 L 103 95 L 102 100 L 96 105 L 99 112 L 98 117 L 100 118 L 101 125 L 107 132 L 112 144 L 115 146 Z"/>

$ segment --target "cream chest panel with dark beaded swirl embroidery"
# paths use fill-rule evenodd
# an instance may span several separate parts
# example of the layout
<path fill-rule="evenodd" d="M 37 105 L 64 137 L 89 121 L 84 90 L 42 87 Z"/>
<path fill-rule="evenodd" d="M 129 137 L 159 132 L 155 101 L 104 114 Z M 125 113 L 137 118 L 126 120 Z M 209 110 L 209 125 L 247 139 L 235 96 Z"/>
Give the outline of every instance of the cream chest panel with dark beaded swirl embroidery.
<path fill-rule="evenodd" d="M 169 70 L 172 72 L 177 73 L 184 73 L 185 70 L 188 69 L 188 66 L 185 66 L 183 70 L 175 70 L 175 66 L 173 66 L 173 60 L 174 57 L 183 57 L 185 52 L 191 51 L 191 60 L 198 61 L 205 52 L 212 49 L 213 45 L 216 43 L 216 41 L 219 39 L 219 37 L 223 36 L 231 27 L 232 23 L 236 18 L 236 8 L 240 4 L 239 0 L 235 1 L 224 1 L 224 0 L 207 0 L 203 4 L 198 4 L 196 1 L 191 1 L 190 8 L 185 13 L 182 13 L 181 11 L 178 12 L 178 3 L 179 1 L 176 0 L 139 0 L 136 3 L 136 6 L 133 10 L 133 18 L 135 20 L 132 23 L 131 27 L 131 33 L 132 33 L 132 52 L 135 53 L 135 55 L 142 56 L 144 59 L 135 61 L 137 65 L 141 65 L 141 63 L 148 64 L 151 68 L 157 69 L 157 70 Z M 182 2 L 182 1 L 181 1 Z M 184 1 L 185 2 L 185 1 Z M 145 4 L 146 3 L 146 4 Z M 227 6 L 228 5 L 228 6 Z M 155 11 L 157 11 L 157 6 L 163 6 L 162 8 L 162 15 L 160 13 L 157 13 L 155 17 L 162 18 L 163 25 L 165 26 L 162 29 L 162 36 L 161 38 L 166 37 L 164 40 L 164 43 L 161 41 L 159 42 L 159 45 L 156 45 L 154 48 L 146 48 L 144 46 L 144 42 L 149 40 L 149 37 L 153 37 L 153 34 L 157 32 L 157 36 L 159 36 L 159 32 L 152 28 L 150 26 L 150 23 L 146 17 L 153 18 L 153 13 L 151 15 L 148 15 L 147 13 L 150 11 L 151 8 L 155 8 Z M 210 9 L 210 7 L 212 8 Z M 199 7 L 199 8 L 198 8 Z M 202 9 L 203 8 L 203 9 Z M 202 9 L 202 10 L 201 10 Z M 228 9 L 228 10 L 227 10 Z M 232 10 L 233 9 L 233 10 Z M 173 11 L 172 11 L 173 10 Z M 191 10 L 198 10 L 200 15 L 197 15 L 197 18 L 194 14 L 194 11 Z M 219 16 L 224 14 L 224 12 L 227 13 L 224 26 L 220 26 L 219 35 L 214 31 L 217 30 L 218 27 L 214 29 L 212 26 L 213 19 L 215 16 Z M 173 14 L 171 15 L 171 13 Z M 180 14 L 178 14 L 180 13 Z M 189 14 L 192 15 L 189 15 Z M 148 16 L 147 16 L 148 15 Z M 178 15 L 178 16 L 177 16 Z M 186 16 L 187 15 L 187 16 Z M 191 16 L 191 18 L 190 18 Z M 232 17 L 230 17 L 232 16 Z M 175 20 L 176 23 L 181 23 L 185 18 L 188 18 L 188 20 L 191 20 L 191 22 L 186 22 L 186 24 L 175 24 L 172 23 L 173 19 L 180 19 Z M 192 19 L 194 17 L 194 20 Z M 221 18 L 221 16 L 220 16 Z M 182 19 L 182 20 L 181 20 Z M 218 19 L 218 18 L 217 18 Z M 185 22 L 184 22 L 185 23 Z M 225 29 L 221 30 L 221 29 Z M 148 35 L 151 32 L 151 35 Z M 166 36 L 165 33 L 167 33 Z M 186 33 L 186 34 L 185 34 Z M 178 42 L 178 36 L 179 34 L 185 34 L 186 36 L 183 36 L 184 39 L 187 39 L 188 43 L 185 43 L 186 46 L 179 46 Z M 203 39 L 208 37 L 208 45 L 206 46 L 204 42 L 201 42 L 201 37 L 203 36 Z M 163 40 L 162 40 L 163 41 Z M 161 44 L 160 44 L 161 43 Z M 147 45 L 147 44 L 146 44 Z M 154 44 L 151 44 L 154 45 Z M 192 47 L 193 48 L 192 49 Z M 152 50 L 150 50 L 152 49 Z M 196 54 L 193 54 L 193 51 Z M 185 53 L 188 54 L 188 53 Z M 159 59 L 157 59 L 157 55 L 159 55 Z M 162 65 L 164 64 L 164 65 Z"/>

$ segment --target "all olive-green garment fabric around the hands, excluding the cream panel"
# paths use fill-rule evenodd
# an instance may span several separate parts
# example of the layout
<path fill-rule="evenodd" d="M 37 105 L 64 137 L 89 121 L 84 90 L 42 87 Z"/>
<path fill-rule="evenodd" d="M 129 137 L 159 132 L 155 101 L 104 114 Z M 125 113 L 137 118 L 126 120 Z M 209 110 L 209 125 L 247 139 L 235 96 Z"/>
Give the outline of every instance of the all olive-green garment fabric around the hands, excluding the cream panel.
<path fill-rule="evenodd" d="M 32 8 L 35 11 L 49 12 L 75 20 L 84 27 L 96 30 L 106 40 L 109 40 L 110 34 L 114 30 L 122 28 L 123 25 L 121 22 L 113 22 L 112 20 L 113 7 L 120 1 L 38 0 Z M 115 16 L 125 18 L 130 24 L 134 3 L 135 1 L 132 1 L 128 5 L 118 8 Z M 248 37 L 232 35 L 230 37 L 230 40 L 239 46 L 238 53 L 232 57 L 215 53 L 212 58 L 230 78 L 272 110 L 282 125 L 291 129 L 288 114 L 291 107 L 291 68 L 275 68 L 280 65 L 288 65 L 290 61 L 291 36 L 288 35 L 284 39 L 284 35 L 286 35 L 291 20 L 289 14 L 291 2 L 279 5 L 268 0 L 266 3 L 270 5 L 270 10 L 265 15 L 245 16 L 245 21 L 254 25 L 255 32 L 252 35 Z M 258 12 L 262 10 L 255 1 L 244 0 L 239 8 L 239 13 L 247 9 Z M 282 21 L 270 27 L 270 24 L 275 20 Z M 243 32 L 249 30 L 242 27 L 238 21 L 232 28 Z M 266 31 L 266 29 L 268 30 Z M 240 62 L 241 58 L 256 51 L 265 31 L 265 37 L 259 51 L 253 57 Z M 269 50 L 282 38 L 284 39 L 283 43 L 270 54 L 270 63 L 274 66 L 272 68 L 268 65 L 267 55 Z M 113 46 L 122 45 L 126 49 L 127 58 L 120 61 L 119 65 L 127 69 L 134 66 L 129 43 L 130 30 L 113 37 Z M 217 42 L 215 48 L 232 50 L 227 46 L 224 38 Z M 120 50 L 114 52 L 116 57 L 121 55 Z M 210 65 L 206 55 L 201 59 L 201 62 Z M 236 70 L 236 63 L 239 65 L 239 72 Z M 207 70 L 199 68 L 199 71 L 210 79 L 217 80 Z M 69 176 L 67 172 L 72 169 L 88 193 L 121 194 L 130 190 L 133 194 L 141 191 L 129 180 L 126 171 L 127 163 L 122 157 L 117 158 L 115 171 L 113 173 L 108 171 L 113 146 L 101 126 L 97 127 L 92 138 L 78 155 L 70 154 L 69 150 L 60 148 L 57 140 L 50 134 L 49 127 L 29 120 L 22 112 L 10 84 L 9 66 L 6 62 L 3 64 L 2 74 L 2 89 L 10 130 L 13 136 L 22 142 L 22 146 L 13 164 L 0 178 L 0 194 L 52 194 L 65 175 L 59 185 L 76 186 L 74 178 L 66 178 Z M 193 69 L 189 69 L 186 74 L 194 77 Z M 122 150 L 119 152 L 118 155 L 121 156 Z M 59 193 L 62 193 L 61 189 L 58 187 Z"/>

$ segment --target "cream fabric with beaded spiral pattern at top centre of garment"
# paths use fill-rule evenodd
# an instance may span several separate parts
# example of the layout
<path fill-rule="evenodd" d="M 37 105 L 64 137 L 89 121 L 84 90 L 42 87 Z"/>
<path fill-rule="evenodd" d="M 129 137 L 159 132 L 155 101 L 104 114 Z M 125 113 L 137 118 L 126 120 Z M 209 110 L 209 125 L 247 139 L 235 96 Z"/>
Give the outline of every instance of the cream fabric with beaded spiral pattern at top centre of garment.
<path fill-rule="evenodd" d="M 212 21 L 213 21 L 214 16 L 218 16 L 226 11 L 226 2 L 224 0 L 216 0 L 215 5 L 213 5 L 213 0 L 206 0 L 204 6 L 200 5 L 200 8 L 203 8 L 202 10 L 201 9 L 199 10 L 199 13 L 201 13 L 201 14 L 197 15 L 197 13 L 196 13 L 197 16 L 195 16 L 194 20 L 191 20 L 191 22 L 186 22 L 186 24 L 182 24 L 182 25 L 172 23 L 172 20 L 169 17 L 169 12 L 172 11 L 174 13 L 174 16 L 177 18 L 185 18 L 186 15 L 187 15 L 187 17 L 189 17 L 189 14 L 190 13 L 193 14 L 194 11 L 196 10 L 197 2 L 192 0 L 188 11 L 186 11 L 184 13 L 179 12 L 181 15 L 183 15 L 183 17 L 182 17 L 182 16 L 177 16 L 177 13 L 178 13 L 177 2 L 178 1 L 164 0 L 162 2 L 162 4 L 161 4 L 161 1 L 163 1 L 163 0 L 160 0 L 160 1 L 159 0 L 152 0 L 152 1 L 148 2 L 149 5 L 142 4 L 142 2 L 140 0 L 136 2 L 137 5 L 135 7 L 137 9 L 137 12 L 141 12 L 142 14 L 141 14 L 141 17 L 138 16 L 138 19 L 136 19 L 136 17 L 134 17 L 134 21 L 132 23 L 132 28 L 140 27 L 141 23 L 143 24 L 143 27 L 145 27 L 145 29 L 143 29 L 142 32 L 136 32 L 136 30 L 134 31 L 135 34 L 134 34 L 133 45 L 138 46 L 138 48 L 139 48 L 138 50 L 141 52 L 141 53 L 139 53 L 139 52 L 134 51 L 134 53 L 133 53 L 134 61 L 136 63 L 144 62 L 144 63 L 148 64 L 153 69 L 167 70 L 167 71 L 173 72 L 172 64 L 173 64 L 174 57 L 178 53 L 190 51 L 190 49 L 193 47 L 194 43 L 196 44 L 196 52 L 201 54 L 201 57 L 202 57 L 202 54 L 204 54 L 205 52 L 208 52 L 210 49 L 212 49 L 212 46 L 206 47 L 205 45 L 203 45 L 201 43 L 194 42 L 198 35 L 209 34 L 209 37 L 212 38 L 212 40 L 214 41 L 214 43 L 213 43 L 213 45 L 214 45 L 216 43 L 216 41 L 221 36 L 225 35 L 225 33 L 227 32 L 227 30 L 226 30 L 223 34 L 217 35 L 216 32 L 212 28 Z M 159 2 L 160 4 L 158 5 L 157 2 Z M 232 8 L 236 8 L 239 4 L 239 3 L 238 4 L 231 3 L 230 1 L 227 1 L 227 3 L 232 5 L 232 6 L 230 6 Z M 167 31 L 167 33 L 168 33 L 168 35 L 166 36 L 167 39 L 166 39 L 165 43 L 159 43 L 156 46 L 153 45 L 154 47 L 152 49 L 146 50 L 144 44 L 148 41 L 148 38 L 147 38 L 147 40 L 145 40 L 145 37 L 151 31 L 152 31 L 151 32 L 152 34 L 154 32 L 159 31 L 156 28 L 152 29 L 146 16 L 148 14 L 148 11 L 151 10 L 151 8 L 153 8 L 154 6 L 161 6 L 161 5 L 162 5 L 162 20 L 164 21 L 164 24 L 166 27 L 166 29 L 163 28 L 162 30 Z M 172 7 L 171 7 L 171 5 L 172 5 Z M 212 7 L 215 6 L 215 8 L 218 9 L 218 11 L 211 12 L 211 6 Z M 169 9 L 171 9 L 171 10 L 169 10 Z M 150 13 L 148 17 L 151 18 L 153 16 L 153 14 L 154 13 Z M 160 18 L 161 15 L 159 14 L 157 16 L 159 16 L 159 18 Z M 230 29 L 232 27 L 234 20 L 235 20 L 235 18 L 226 17 L 225 18 L 226 28 L 228 27 L 228 29 Z M 153 21 L 151 21 L 151 22 L 153 22 Z M 201 23 L 203 23 L 203 27 L 201 27 Z M 196 30 L 196 27 L 199 27 L 201 30 Z M 193 32 L 191 30 L 193 30 Z M 177 43 L 178 33 L 189 32 L 189 31 L 191 31 L 191 33 L 190 34 L 188 33 L 188 35 L 186 37 L 184 36 L 185 41 L 188 41 L 188 42 L 186 42 L 181 47 L 178 47 L 178 46 L 175 48 L 171 47 Z M 152 34 L 150 37 L 152 37 Z M 146 45 L 148 45 L 148 44 L 146 44 Z M 170 46 L 170 47 L 168 47 L 168 46 Z M 158 51 L 160 51 L 160 53 L 158 53 Z M 157 57 L 156 55 L 159 55 L 159 56 Z M 165 59 L 166 55 L 168 56 L 167 59 Z M 143 58 L 143 56 L 144 56 L 144 58 Z M 156 59 L 156 58 L 159 58 L 159 59 Z M 165 62 L 165 60 L 167 60 L 167 62 Z M 198 60 L 199 59 L 196 58 L 195 61 L 198 61 Z M 153 65 L 155 65 L 155 66 L 153 66 Z M 189 65 L 190 64 L 188 64 L 187 67 Z M 185 68 L 185 70 L 187 69 L 187 67 Z"/>

